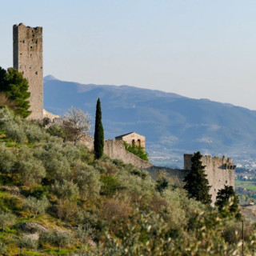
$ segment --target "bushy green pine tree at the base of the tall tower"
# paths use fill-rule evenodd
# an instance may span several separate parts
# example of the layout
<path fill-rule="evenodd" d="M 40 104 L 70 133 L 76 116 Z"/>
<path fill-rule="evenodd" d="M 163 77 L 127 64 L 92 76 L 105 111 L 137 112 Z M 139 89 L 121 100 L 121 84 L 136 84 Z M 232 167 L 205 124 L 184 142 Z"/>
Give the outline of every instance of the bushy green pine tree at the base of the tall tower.
<path fill-rule="evenodd" d="M 29 85 L 22 74 L 14 68 L 3 70 L 0 68 L 0 91 L 6 94 L 6 97 L 15 103 L 15 114 L 26 118 L 31 114 Z"/>

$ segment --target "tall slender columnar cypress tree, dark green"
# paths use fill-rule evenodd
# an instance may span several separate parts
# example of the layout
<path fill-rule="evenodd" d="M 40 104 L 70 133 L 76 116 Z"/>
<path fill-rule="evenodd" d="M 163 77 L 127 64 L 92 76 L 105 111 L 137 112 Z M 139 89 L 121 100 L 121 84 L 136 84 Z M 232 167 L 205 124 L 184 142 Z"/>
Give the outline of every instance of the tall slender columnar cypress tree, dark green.
<path fill-rule="evenodd" d="M 104 149 L 104 130 L 102 126 L 102 109 L 101 101 L 98 98 L 96 106 L 96 117 L 95 117 L 95 131 L 94 131 L 94 154 L 95 158 L 101 158 Z"/>

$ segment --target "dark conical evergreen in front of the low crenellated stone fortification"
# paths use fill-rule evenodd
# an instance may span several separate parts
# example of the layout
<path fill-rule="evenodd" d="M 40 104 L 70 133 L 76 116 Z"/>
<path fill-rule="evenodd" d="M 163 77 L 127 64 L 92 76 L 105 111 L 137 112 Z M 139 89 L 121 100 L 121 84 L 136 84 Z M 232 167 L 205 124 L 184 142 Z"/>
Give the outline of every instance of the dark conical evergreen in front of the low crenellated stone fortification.
<path fill-rule="evenodd" d="M 188 191 L 190 198 L 195 198 L 204 204 L 210 204 L 210 186 L 205 174 L 206 166 L 202 166 L 201 158 L 202 154 L 200 152 L 194 153 L 191 158 L 192 166 L 184 179 L 184 182 L 186 182 L 184 189 Z"/>

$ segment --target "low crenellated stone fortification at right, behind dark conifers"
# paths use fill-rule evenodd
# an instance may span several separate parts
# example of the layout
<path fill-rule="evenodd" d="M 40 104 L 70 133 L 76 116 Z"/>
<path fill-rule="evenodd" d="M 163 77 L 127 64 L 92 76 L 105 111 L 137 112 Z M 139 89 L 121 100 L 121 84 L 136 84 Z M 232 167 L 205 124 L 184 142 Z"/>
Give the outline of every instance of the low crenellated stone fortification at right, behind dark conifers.
<path fill-rule="evenodd" d="M 184 169 L 191 169 L 192 154 L 184 154 Z M 224 186 L 234 187 L 234 163 L 231 158 L 214 157 L 206 155 L 202 157 L 202 165 L 206 166 L 207 179 L 209 181 L 210 194 L 212 195 L 212 202 L 216 202 L 218 190 L 222 190 Z"/>

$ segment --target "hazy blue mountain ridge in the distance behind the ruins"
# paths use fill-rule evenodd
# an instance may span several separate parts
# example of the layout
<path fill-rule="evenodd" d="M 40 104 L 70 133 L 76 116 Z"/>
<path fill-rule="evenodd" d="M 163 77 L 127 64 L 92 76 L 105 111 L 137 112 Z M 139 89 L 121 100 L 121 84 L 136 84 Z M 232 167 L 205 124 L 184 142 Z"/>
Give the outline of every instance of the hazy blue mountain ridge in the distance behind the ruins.
<path fill-rule="evenodd" d="M 82 85 L 53 76 L 44 79 L 44 106 L 53 114 L 78 106 L 94 120 L 98 98 L 105 137 L 130 131 L 145 135 L 146 150 L 154 162 L 182 166 L 182 155 L 196 150 L 226 154 L 237 162 L 255 158 L 256 111 L 134 86 Z"/>

